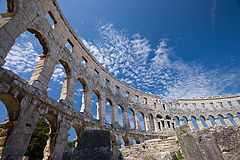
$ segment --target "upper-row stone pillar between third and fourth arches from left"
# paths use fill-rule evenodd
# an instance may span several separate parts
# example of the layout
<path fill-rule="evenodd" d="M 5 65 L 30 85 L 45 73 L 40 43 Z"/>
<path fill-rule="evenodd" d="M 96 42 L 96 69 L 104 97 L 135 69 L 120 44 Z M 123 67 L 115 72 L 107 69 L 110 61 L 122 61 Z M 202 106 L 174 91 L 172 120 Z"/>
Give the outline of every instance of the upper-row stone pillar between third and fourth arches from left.
<path fill-rule="evenodd" d="M 88 115 L 91 115 L 92 112 L 92 91 L 90 90 L 84 90 L 83 91 L 83 99 L 81 112 L 85 112 Z"/>

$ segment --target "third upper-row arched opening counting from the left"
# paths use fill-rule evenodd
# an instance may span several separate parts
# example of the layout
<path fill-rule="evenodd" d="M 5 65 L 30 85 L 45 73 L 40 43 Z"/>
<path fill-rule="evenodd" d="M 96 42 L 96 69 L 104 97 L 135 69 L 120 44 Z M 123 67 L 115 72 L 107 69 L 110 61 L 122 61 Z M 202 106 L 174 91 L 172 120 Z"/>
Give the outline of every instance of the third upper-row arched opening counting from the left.
<path fill-rule="evenodd" d="M 74 109 L 81 111 L 82 106 L 84 106 L 86 91 L 86 82 L 83 79 L 78 79 L 75 90 L 74 90 Z"/>

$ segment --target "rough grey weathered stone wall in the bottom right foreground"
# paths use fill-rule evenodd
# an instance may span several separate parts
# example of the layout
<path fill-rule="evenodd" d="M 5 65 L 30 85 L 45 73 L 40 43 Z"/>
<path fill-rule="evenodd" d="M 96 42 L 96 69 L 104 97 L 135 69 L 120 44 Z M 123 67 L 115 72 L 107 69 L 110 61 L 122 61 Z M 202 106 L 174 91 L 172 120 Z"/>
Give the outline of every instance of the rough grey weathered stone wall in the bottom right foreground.
<path fill-rule="evenodd" d="M 191 132 L 183 125 L 177 136 L 186 160 L 237 160 L 240 158 L 240 127 L 214 127 Z"/>

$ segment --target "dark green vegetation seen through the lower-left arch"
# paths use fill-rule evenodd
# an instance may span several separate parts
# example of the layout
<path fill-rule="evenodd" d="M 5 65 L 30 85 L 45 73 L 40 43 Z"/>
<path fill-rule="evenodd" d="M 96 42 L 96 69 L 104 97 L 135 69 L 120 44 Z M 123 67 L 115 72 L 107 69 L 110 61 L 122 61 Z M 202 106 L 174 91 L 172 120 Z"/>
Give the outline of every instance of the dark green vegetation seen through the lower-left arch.
<path fill-rule="evenodd" d="M 47 121 L 43 117 L 40 118 L 25 152 L 25 156 L 29 156 L 29 160 L 43 159 L 43 151 L 47 144 L 49 131 L 50 128 Z"/>

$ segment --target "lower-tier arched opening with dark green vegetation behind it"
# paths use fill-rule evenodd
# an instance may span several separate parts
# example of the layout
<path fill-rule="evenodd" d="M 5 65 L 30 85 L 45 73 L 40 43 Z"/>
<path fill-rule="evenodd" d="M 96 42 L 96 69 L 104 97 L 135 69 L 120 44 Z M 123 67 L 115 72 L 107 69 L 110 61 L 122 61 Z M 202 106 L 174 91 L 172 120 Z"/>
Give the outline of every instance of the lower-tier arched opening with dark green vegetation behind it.
<path fill-rule="evenodd" d="M 56 142 L 57 128 L 56 116 L 47 114 L 40 117 L 24 155 L 29 159 L 49 158 Z"/>

